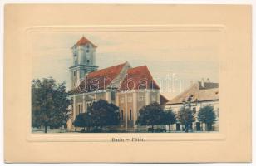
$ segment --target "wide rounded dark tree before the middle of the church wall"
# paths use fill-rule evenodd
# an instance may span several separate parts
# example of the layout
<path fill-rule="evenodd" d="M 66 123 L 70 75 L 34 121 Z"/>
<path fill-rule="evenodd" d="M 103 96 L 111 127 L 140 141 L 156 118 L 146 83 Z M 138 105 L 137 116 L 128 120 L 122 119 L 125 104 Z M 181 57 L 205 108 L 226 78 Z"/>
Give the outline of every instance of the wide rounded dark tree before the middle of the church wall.
<path fill-rule="evenodd" d="M 119 107 L 106 100 L 94 102 L 87 110 L 87 126 L 96 127 L 96 129 L 105 126 L 119 125 L 120 113 Z M 90 120 L 90 121 L 89 121 Z"/>

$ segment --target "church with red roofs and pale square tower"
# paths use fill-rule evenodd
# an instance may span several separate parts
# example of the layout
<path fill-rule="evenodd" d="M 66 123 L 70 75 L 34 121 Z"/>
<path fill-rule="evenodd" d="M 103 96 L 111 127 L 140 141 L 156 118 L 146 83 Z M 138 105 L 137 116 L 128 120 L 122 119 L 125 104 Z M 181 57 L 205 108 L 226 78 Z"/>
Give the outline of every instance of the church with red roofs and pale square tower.
<path fill-rule="evenodd" d="M 86 37 L 81 37 L 71 47 L 73 64 L 69 70 L 73 104 L 68 129 L 74 129 L 72 122 L 76 115 L 86 112 L 93 102 L 106 100 L 119 107 L 119 129 L 135 131 L 141 127 L 135 125 L 141 107 L 152 102 L 165 105 L 168 100 L 160 95 L 160 86 L 151 76 L 147 66 L 132 67 L 126 61 L 98 70 L 96 48 L 97 46 Z"/>

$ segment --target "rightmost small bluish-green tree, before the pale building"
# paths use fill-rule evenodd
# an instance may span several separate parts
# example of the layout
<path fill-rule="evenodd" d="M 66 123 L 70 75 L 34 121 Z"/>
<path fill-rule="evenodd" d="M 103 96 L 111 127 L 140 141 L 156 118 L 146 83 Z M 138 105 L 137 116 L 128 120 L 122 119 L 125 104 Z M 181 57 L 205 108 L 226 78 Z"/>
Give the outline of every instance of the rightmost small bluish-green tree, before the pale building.
<path fill-rule="evenodd" d="M 216 121 L 214 107 L 213 106 L 204 106 L 204 107 L 200 108 L 199 113 L 198 113 L 198 120 L 199 120 L 199 122 L 206 124 L 207 131 L 212 130 L 212 125 Z"/>

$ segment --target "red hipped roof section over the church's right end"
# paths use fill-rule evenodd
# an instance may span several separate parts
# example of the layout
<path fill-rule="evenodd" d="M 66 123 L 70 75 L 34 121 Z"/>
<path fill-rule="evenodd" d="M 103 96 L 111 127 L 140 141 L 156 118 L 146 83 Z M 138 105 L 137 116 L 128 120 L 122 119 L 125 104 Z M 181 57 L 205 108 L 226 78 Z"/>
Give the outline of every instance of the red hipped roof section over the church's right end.
<path fill-rule="evenodd" d="M 121 90 L 157 89 L 156 84 L 147 66 L 130 68 L 127 71 L 126 79 L 121 84 Z"/>

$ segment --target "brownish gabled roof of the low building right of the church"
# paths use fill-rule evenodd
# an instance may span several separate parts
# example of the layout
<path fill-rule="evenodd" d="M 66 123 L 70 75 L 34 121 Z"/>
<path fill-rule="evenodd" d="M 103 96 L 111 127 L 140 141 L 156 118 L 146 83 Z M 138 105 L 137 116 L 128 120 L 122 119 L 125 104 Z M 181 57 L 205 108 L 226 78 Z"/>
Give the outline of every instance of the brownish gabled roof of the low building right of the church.
<path fill-rule="evenodd" d="M 219 100 L 219 83 L 205 82 L 204 86 L 202 86 L 202 83 L 198 81 L 180 93 L 180 95 L 170 100 L 167 105 L 181 104 L 183 100 L 188 100 L 190 95 L 192 96 L 192 102 L 195 100 Z"/>

